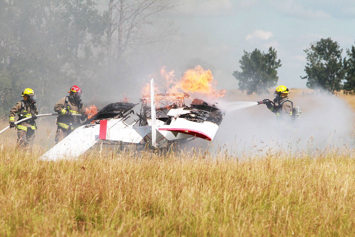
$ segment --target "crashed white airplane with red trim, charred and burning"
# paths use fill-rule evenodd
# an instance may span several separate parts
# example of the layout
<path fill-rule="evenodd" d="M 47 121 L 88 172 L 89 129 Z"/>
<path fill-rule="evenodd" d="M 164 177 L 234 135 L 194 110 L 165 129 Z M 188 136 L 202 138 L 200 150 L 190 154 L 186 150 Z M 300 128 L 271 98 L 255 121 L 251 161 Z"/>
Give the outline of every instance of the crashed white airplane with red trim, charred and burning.
<path fill-rule="evenodd" d="M 212 141 L 224 112 L 202 99 L 193 99 L 190 106 L 186 106 L 184 99 L 187 97 L 186 93 L 155 95 L 152 79 L 151 95 L 141 98 L 139 114 L 134 112 L 138 107 L 135 103 L 108 104 L 40 159 L 76 158 L 95 144 L 147 144 L 152 148 L 164 148 L 181 140 Z M 128 123 L 133 115 L 137 119 Z"/>

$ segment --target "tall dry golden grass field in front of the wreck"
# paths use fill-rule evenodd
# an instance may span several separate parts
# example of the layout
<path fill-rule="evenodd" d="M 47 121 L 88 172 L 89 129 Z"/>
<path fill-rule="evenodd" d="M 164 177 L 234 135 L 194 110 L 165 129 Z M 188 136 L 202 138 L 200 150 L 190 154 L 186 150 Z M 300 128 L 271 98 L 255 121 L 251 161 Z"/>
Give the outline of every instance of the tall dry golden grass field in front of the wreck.
<path fill-rule="evenodd" d="M 338 96 L 355 107 L 354 96 Z M 92 150 L 78 160 L 45 162 L 38 157 L 53 145 L 55 126 L 41 123 L 47 130 L 28 149 L 16 146 L 13 129 L 0 135 L 0 236 L 355 233 L 353 149 L 237 156 L 197 147 L 168 154 Z"/>

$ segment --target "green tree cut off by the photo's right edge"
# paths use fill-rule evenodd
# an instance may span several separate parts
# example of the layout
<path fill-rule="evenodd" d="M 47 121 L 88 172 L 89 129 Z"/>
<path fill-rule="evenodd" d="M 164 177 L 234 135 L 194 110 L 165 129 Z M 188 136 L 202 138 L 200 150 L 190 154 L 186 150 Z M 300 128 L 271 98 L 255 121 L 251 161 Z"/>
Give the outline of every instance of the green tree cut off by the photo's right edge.
<path fill-rule="evenodd" d="M 355 47 L 351 45 L 351 49 L 346 50 L 349 59 L 344 59 L 344 69 L 346 80 L 344 82 L 344 93 L 355 93 Z"/>

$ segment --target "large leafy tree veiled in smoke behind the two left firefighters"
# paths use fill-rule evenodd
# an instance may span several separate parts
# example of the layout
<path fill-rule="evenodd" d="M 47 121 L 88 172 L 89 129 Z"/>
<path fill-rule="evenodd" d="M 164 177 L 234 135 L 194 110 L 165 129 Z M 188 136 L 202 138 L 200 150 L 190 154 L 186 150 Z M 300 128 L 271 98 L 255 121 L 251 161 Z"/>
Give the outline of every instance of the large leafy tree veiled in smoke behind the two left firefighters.
<path fill-rule="evenodd" d="M 90 0 L 0 0 L 0 21 L 1 114 L 26 87 L 51 110 L 55 92 L 85 82 L 104 34 Z"/>

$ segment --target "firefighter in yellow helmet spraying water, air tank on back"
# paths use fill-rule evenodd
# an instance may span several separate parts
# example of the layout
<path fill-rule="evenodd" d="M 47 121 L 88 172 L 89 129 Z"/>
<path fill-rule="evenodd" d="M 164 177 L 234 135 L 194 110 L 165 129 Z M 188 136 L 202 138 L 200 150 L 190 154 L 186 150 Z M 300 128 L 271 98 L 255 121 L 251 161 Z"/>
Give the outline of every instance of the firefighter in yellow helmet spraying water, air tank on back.
<path fill-rule="evenodd" d="M 267 108 L 275 113 L 277 118 L 292 119 L 293 103 L 288 98 L 289 93 L 290 91 L 286 86 L 278 86 L 274 92 L 275 105 L 271 101 L 265 102 Z"/>

